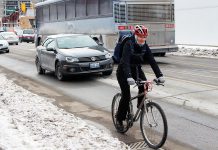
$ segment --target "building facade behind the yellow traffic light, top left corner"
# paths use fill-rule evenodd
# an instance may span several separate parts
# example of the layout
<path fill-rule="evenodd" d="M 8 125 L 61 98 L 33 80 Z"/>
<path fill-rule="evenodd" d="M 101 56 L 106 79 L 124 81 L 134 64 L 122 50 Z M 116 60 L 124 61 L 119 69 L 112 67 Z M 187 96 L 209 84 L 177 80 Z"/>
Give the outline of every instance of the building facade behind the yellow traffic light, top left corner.
<path fill-rule="evenodd" d="M 0 27 L 34 28 L 34 4 L 42 0 L 0 0 Z"/>

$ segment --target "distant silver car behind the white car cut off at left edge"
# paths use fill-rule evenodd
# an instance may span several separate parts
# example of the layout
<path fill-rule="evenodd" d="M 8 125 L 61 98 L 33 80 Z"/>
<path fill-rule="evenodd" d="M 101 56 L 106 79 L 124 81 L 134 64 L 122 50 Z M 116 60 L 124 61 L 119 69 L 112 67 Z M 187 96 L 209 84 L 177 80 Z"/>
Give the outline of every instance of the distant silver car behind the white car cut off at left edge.
<path fill-rule="evenodd" d="M 8 41 L 9 44 L 18 45 L 19 38 L 14 32 L 1 32 L 0 35 Z"/>

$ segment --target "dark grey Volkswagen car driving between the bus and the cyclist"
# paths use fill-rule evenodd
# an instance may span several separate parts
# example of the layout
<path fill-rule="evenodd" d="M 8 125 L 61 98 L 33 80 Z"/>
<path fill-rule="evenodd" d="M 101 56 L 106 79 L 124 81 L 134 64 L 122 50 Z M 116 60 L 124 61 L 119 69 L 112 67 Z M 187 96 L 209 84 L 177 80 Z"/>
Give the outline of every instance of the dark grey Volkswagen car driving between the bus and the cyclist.
<path fill-rule="evenodd" d="M 46 70 L 55 72 L 58 80 L 66 75 L 97 73 L 110 75 L 113 60 L 109 51 L 88 35 L 62 34 L 48 36 L 37 47 L 38 74 Z"/>

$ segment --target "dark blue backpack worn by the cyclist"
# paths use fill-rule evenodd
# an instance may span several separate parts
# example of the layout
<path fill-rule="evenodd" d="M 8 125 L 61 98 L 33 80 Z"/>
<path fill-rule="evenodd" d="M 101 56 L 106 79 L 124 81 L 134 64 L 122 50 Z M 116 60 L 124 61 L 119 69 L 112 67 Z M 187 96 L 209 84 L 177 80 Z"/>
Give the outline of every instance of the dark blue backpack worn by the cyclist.
<path fill-rule="evenodd" d="M 114 48 L 114 54 L 112 56 L 114 63 L 120 63 L 122 52 L 123 52 L 123 46 L 126 43 L 126 41 L 131 39 L 130 37 L 132 35 L 133 34 L 131 31 L 120 31 L 119 32 L 118 42 Z"/>

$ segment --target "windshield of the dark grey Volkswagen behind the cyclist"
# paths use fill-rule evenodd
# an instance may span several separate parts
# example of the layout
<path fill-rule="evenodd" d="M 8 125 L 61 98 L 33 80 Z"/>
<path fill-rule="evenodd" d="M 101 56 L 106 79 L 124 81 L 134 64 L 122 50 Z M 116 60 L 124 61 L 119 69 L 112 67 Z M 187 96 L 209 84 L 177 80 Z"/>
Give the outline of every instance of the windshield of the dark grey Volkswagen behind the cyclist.
<path fill-rule="evenodd" d="M 92 47 L 98 44 L 88 35 L 65 36 L 57 38 L 57 45 L 60 49 L 71 49 L 79 47 Z"/>

